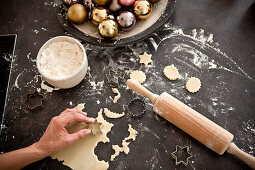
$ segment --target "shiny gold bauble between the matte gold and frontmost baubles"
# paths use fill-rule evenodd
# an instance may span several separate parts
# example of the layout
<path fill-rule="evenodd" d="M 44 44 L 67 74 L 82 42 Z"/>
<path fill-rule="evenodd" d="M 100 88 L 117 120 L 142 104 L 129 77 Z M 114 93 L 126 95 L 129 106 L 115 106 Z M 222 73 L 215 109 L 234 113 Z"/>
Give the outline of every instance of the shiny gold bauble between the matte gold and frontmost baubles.
<path fill-rule="evenodd" d="M 108 10 L 103 7 L 93 7 L 91 18 L 95 25 L 98 25 L 101 21 L 108 18 Z"/>

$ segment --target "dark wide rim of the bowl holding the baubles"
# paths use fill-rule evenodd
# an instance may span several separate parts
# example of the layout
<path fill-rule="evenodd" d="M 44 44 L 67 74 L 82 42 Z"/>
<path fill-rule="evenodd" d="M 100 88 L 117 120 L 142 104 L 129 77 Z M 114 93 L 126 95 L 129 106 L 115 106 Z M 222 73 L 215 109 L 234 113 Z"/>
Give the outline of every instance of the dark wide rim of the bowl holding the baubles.
<path fill-rule="evenodd" d="M 90 36 L 79 29 L 77 29 L 72 23 L 67 20 L 66 11 L 63 8 L 63 0 L 54 0 L 55 11 L 57 13 L 58 20 L 63 28 L 77 37 L 78 39 L 85 41 L 90 44 L 105 46 L 105 47 L 116 47 L 125 46 L 149 37 L 153 32 L 157 31 L 172 15 L 176 0 L 167 0 L 167 5 L 159 17 L 159 19 L 148 27 L 146 30 L 139 32 L 135 35 L 117 39 L 117 40 L 105 40 L 99 37 Z M 154 10 L 154 12 L 157 12 Z"/>

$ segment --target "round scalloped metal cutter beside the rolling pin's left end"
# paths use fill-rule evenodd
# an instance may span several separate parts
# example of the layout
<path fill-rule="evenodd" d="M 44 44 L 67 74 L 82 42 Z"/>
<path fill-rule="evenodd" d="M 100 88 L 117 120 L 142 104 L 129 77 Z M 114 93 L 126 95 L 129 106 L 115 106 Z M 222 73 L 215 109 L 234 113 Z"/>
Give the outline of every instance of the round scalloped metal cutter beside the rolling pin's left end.
<path fill-rule="evenodd" d="M 128 113 L 131 117 L 140 118 L 145 113 L 145 103 L 140 98 L 135 98 L 128 103 Z"/>

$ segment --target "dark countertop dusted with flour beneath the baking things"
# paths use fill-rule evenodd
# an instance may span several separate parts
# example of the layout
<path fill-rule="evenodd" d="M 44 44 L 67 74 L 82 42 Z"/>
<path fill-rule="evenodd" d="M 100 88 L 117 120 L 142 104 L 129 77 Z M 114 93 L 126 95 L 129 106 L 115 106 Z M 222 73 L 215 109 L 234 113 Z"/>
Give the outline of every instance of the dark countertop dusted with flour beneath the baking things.
<path fill-rule="evenodd" d="M 1 152 L 38 141 L 52 116 L 70 107 L 70 101 L 74 105 L 85 102 L 86 111 L 92 117 L 96 116 L 101 107 L 109 107 L 113 111 L 122 110 L 122 106 L 136 97 L 136 94 L 122 86 L 120 92 L 125 97 L 113 105 L 109 97 L 113 93 L 107 83 L 103 87 L 98 84 L 93 88 L 91 82 L 104 82 L 105 73 L 111 67 L 126 66 L 145 71 L 147 88 L 158 94 L 167 91 L 177 97 L 233 133 L 234 143 L 254 155 L 254 1 L 178 0 L 174 15 L 169 21 L 171 24 L 168 24 L 174 27 L 169 28 L 166 25 L 150 39 L 123 48 L 104 49 L 85 44 L 90 74 L 72 89 L 52 93 L 42 90 L 45 100 L 42 108 L 37 111 L 30 111 L 24 105 L 26 95 L 36 91 L 41 85 L 33 59 L 49 38 L 69 34 L 59 24 L 51 1 L 3 1 L 0 8 L 0 33 L 18 35 L 1 133 Z M 193 43 L 187 36 L 169 37 L 176 27 L 183 28 L 186 35 L 193 29 L 198 32 L 203 29 L 208 36 L 212 33 L 213 45 L 200 46 L 201 44 Z M 181 47 L 187 47 L 189 52 L 182 51 L 178 44 L 185 44 L 186 46 Z M 217 48 L 222 53 L 217 52 Z M 195 65 L 192 63 L 195 61 L 192 60 L 194 56 L 190 55 L 190 50 L 194 49 L 198 50 L 196 54 L 201 54 L 200 59 L 205 57 L 204 60 L 199 60 L 202 62 L 200 64 L 199 61 Z M 129 60 L 143 51 L 153 54 L 152 67 L 140 67 L 139 63 Z M 209 66 L 212 60 L 217 65 L 216 68 Z M 179 68 L 180 80 L 169 82 L 162 75 L 166 63 Z M 184 89 L 188 76 L 201 79 L 202 88 L 198 93 L 189 94 Z M 100 101 L 99 105 L 97 100 Z M 146 114 L 141 119 L 132 119 L 127 115 L 121 119 L 107 120 L 115 125 L 108 134 L 111 142 L 100 143 L 96 148 L 95 152 L 100 160 L 110 159 L 113 153 L 111 145 L 121 144 L 121 140 L 127 136 L 128 124 L 132 124 L 139 133 L 137 140 L 130 144 L 130 153 L 120 154 L 114 162 L 110 162 L 109 169 L 184 169 L 184 166 L 175 166 L 175 161 L 170 156 L 176 145 L 189 146 L 193 154 L 186 169 L 249 169 L 230 154 L 215 154 L 171 123 L 156 116 L 147 100 Z M 50 158 L 26 168 L 68 169 Z"/>

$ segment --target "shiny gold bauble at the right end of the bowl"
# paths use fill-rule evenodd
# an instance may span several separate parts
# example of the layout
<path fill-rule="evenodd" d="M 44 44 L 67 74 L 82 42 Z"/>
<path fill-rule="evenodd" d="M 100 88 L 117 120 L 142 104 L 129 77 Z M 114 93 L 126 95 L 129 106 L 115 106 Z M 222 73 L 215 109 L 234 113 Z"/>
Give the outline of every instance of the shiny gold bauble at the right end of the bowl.
<path fill-rule="evenodd" d="M 134 12 L 138 19 L 146 19 L 150 16 L 152 6 L 147 0 L 139 0 L 134 3 Z"/>

